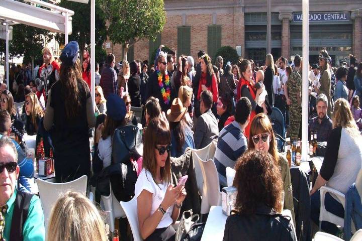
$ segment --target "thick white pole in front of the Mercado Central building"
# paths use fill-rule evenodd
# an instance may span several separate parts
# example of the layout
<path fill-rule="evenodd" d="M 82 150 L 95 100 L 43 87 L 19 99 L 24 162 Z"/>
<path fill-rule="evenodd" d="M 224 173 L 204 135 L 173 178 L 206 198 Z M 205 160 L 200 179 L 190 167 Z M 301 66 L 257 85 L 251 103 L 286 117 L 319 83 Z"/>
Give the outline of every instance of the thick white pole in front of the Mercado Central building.
<path fill-rule="evenodd" d="M 302 161 L 308 161 L 309 0 L 303 0 Z"/>

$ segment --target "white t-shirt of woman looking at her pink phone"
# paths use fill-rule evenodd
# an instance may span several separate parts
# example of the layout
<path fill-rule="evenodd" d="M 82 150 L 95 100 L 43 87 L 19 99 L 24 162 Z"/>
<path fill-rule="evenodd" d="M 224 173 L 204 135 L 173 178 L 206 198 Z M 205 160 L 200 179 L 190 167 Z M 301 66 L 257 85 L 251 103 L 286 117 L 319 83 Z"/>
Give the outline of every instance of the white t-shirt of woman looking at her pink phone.
<path fill-rule="evenodd" d="M 142 169 L 140 175 L 137 178 L 137 182 L 135 185 L 135 196 L 138 197 L 143 190 L 149 191 L 152 193 L 152 207 L 150 215 L 152 215 L 161 204 L 164 195 L 166 193 L 166 189 L 169 183 L 164 184 L 156 184 L 152 178 L 151 173 L 146 170 Z M 161 221 L 158 223 L 156 228 L 168 227 L 172 224 L 173 220 L 171 218 L 173 211 L 173 206 L 170 206 L 166 213 L 163 215 Z"/>

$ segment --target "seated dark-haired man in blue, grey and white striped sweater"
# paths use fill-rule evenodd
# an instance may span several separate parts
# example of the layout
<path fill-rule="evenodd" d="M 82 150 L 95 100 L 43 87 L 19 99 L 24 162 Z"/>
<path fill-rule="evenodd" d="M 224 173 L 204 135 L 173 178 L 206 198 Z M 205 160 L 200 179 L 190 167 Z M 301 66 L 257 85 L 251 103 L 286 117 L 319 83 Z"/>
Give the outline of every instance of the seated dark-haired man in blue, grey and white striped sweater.
<path fill-rule="evenodd" d="M 226 167 L 235 167 L 237 159 L 247 150 L 245 127 L 249 124 L 251 103 L 241 97 L 235 107 L 235 121 L 221 130 L 215 151 L 214 162 L 219 174 L 220 185 L 227 186 Z"/>

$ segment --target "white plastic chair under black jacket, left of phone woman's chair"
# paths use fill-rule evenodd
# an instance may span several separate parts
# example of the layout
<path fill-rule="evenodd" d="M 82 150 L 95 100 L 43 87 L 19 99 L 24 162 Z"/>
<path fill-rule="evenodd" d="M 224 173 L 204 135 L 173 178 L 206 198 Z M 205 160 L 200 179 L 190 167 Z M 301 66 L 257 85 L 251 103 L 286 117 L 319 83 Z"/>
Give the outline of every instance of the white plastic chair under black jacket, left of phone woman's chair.
<path fill-rule="evenodd" d="M 110 195 L 102 196 L 101 195 L 101 207 L 103 207 L 104 211 L 107 213 L 108 223 L 110 225 L 110 229 L 113 232 L 115 229 L 115 218 L 126 217 L 126 214 L 118 202 L 116 196 L 113 194 L 111 182 L 110 182 Z"/>

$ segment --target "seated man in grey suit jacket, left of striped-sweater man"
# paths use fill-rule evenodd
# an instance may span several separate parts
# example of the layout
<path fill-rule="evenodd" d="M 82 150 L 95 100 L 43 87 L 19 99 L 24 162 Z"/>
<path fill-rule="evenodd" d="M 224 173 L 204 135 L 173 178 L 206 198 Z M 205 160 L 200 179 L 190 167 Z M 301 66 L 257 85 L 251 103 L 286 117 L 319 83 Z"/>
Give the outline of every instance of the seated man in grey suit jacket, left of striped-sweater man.
<path fill-rule="evenodd" d="M 194 134 L 196 149 L 206 147 L 219 136 L 218 123 L 215 115 L 211 111 L 212 98 L 213 96 L 210 90 L 204 90 L 201 93 L 200 112 L 202 114 L 198 118 Z"/>

